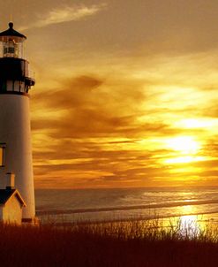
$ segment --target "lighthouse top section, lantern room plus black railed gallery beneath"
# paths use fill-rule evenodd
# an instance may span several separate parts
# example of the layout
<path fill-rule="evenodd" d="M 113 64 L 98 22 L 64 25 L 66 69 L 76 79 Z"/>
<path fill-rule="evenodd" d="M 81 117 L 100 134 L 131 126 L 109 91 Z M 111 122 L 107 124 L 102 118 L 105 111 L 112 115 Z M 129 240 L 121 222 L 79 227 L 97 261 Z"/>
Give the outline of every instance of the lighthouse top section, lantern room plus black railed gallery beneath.
<path fill-rule="evenodd" d="M 26 36 L 9 28 L 0 33 L 0 94 L 26 94 L 34 86 L 33 72 L 24 55 Z"/>

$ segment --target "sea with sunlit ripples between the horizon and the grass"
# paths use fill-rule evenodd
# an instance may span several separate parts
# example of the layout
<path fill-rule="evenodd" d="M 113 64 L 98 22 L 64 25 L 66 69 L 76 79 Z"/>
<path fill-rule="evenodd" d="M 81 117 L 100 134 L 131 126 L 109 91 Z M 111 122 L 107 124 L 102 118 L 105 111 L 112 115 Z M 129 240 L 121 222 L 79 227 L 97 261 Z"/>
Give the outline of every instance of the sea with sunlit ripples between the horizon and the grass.
<path fill-rule="evenodd" d="M 107 222 L 181 217 L 218 222 L 218 187 L 38 189 L 41 222 Z"/>

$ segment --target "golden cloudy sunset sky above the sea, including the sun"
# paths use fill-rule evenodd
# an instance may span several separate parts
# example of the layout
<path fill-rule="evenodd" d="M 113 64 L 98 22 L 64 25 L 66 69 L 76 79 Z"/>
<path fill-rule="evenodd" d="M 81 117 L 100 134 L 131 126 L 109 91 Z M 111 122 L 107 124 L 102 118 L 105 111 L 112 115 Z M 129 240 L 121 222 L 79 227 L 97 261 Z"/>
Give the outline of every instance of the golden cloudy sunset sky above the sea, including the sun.
<path fill-rule="evenodd" d="M 36 188 L 218 186 L 216 0 L 0 1 L 27 36 Z"/>

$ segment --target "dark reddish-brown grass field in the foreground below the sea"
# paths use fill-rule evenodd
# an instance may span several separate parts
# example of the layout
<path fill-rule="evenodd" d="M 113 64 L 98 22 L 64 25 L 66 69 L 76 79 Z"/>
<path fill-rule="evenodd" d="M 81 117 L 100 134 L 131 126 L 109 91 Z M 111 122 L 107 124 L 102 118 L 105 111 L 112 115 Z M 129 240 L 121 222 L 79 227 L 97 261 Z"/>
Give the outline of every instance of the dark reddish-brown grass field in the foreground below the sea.
<path fill-rule="evenodd" d="M 213 267 L 218 228 L 160 220 L 71 225 L 0 225 L 1 266 Z"/>

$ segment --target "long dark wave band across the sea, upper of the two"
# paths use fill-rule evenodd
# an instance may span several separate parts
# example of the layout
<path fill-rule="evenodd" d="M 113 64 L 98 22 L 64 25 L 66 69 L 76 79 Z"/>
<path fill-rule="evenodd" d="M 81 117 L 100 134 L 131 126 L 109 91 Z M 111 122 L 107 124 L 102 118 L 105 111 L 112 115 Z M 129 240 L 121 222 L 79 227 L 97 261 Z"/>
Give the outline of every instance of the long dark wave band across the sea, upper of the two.
<path fill-rule="evenodd" d="M 146 205 L 132 205 L 132 206 L 117 206 L 117 207 L 104 207 L 104 208 L 90 208 L 90 209 L 67 209 L 67 210 L 36 210 L 36 215 L 58 215 L 58 214 L 76 214 L 87 212 L 107 212 L 107 211 L 121 211 L 121 210 L 148 210 L 148 209 L 160 209 L 160 208 L 175 208 L 181 206 L 190 205 L 205 205 L 218 203 L 216 200 L 204 200 L 204 201 L 184 201 L 184 202 L 165 202 L 154 203 Z"/>

